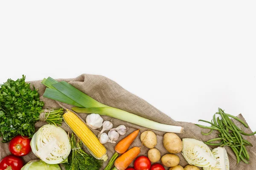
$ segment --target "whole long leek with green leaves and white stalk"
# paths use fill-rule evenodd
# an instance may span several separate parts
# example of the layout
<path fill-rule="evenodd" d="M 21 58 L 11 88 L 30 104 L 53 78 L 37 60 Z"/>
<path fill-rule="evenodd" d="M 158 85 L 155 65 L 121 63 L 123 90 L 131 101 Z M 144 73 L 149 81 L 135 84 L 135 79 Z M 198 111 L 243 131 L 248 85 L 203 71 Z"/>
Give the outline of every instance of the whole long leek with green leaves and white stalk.
<path fill-rule="evenodd" d="M 104 105 L 65 81 L 57 82 L 51 77 L 48 77 L 42 83 L 48 87 L 44 93 L 44 97 L 74 105 L 76 108 L 73 108 L 73 110 L 78 113 L 98 113 L 164 132 L 183 133 L 184 131 L 184 128 L 180 126 L 161 124 L 133 113 Z"/>

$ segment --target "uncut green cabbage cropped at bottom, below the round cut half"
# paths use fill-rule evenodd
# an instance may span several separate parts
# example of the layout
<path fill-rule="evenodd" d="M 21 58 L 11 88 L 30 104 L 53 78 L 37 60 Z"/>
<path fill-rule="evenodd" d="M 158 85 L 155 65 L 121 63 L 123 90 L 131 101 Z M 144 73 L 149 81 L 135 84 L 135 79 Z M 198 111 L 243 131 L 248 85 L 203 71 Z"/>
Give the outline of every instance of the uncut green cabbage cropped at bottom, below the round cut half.
<path fill-rule="evenodd" d="M 61 170 L 58 164 L 47 164 L 42 160 L 29 161 L 21 170 Z"/>

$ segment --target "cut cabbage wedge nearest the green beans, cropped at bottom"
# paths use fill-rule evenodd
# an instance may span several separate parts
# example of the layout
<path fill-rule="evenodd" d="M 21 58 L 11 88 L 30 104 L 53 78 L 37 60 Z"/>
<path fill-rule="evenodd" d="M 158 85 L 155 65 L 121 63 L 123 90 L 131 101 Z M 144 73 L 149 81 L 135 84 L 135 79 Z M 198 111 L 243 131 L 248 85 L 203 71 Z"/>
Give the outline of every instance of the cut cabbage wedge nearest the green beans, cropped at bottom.
<path fill-rule="evenodd" d="M 212 150 L 212 154 L 215 156 L 218 163 L 215 167 L 204 167 L 204 170 L 229 170 L 229 159 L 227 156 L 227 150 L 224 147 L 217 147 Z"/>

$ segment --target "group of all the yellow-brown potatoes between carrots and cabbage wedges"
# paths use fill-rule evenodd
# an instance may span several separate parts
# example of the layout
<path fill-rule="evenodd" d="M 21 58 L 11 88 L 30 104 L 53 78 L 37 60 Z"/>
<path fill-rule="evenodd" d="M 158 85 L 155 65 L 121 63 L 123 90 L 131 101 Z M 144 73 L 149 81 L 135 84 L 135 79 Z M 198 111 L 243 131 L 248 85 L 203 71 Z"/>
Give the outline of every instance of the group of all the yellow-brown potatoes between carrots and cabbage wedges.
<path fill-rule="evenodd" d="M 157 136 L 154 132 L 147 130 L 141 133 L 140 140 L 145 147 L 150 149 L 148 150 L 148 159 L 151 162 L 154 163 L 161 159 L 164 166 L 170 167 L 169 170 L 199 170 L 199 168 L 194 165 L 187 165 L 185 168 L 178 165 L 180 163 L 180 158 L 175 155 L 175 153 L 180 153 L 183 147 L 180 137 L 175 133 L 164 134 L 163 146 L 169 153 L 162 156 L 162 158 L 159 150 L 154 148 L 157 144 Z"/>

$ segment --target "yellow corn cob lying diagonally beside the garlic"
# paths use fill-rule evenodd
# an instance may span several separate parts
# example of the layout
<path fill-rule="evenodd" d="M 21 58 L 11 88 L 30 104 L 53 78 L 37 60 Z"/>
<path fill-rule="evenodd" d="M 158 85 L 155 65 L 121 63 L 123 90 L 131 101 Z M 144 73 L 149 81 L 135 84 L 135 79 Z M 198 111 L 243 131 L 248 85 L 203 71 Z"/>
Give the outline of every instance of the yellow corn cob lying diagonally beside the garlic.
<path fill-rule="evenodd" d="M 104 161 L 108 159 L 106 148 L 75 113 L 67 110 L 63 119 L 96 159 Z"/>

